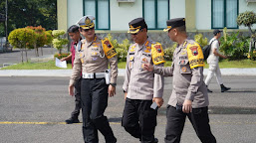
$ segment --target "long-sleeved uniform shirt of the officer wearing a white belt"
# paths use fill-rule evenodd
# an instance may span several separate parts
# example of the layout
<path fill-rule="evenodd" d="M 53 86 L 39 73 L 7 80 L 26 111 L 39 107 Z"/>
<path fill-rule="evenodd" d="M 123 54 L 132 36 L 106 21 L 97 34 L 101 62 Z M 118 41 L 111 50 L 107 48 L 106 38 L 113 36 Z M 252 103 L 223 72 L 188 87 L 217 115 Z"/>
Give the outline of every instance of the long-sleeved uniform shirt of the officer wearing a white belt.
<path fill-rule="evenodd" d="M 109 64 L 111 68 L 111 83 L 117 83 L 118 58 L 111 42 L 108 39 L 103 40 L 95 36 L 94 41 L 88 43 L 84 39 L 81 43 L 81 50 L 76 53 L 70 85 L 74 85 L 81 77 L 81 71 L 87 73 L 105 72 L 108 70 Z"/>

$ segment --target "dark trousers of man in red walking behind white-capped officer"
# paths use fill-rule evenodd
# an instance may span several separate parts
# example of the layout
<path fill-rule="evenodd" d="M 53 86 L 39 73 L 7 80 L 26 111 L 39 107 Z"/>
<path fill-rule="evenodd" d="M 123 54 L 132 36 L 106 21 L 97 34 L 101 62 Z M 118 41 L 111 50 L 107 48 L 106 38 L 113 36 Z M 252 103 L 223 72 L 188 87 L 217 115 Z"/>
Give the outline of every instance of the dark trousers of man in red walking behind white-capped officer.
<path fill-rule="evenodd" d="M 75 109 L 71 113 L 71 118 L 78 119 L 80 109 L 81 109 L 81 79 L 75 84 Z"/>

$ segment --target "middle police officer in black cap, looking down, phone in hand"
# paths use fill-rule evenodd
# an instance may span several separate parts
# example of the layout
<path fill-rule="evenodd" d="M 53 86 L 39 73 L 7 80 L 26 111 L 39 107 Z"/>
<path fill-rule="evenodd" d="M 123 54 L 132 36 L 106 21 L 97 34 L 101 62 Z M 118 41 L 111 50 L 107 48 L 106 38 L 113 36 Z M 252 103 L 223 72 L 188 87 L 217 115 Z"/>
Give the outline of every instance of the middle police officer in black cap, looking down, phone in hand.
<path fill-rule="evenodd" d="M 154 138 L 156 106 L 163 103 L 163 76 L 142 70 L 145 63 L 163 67 L 163 51 L 159 43 L 147 37 L 147 26 L 143 18 L 128 23 L 128 33 L 134 44 L 128 48 L 125 82 L 126 105 L 123 126 L 128 133 L 142 143 L 158 142 Z M 154 102 L 156 108 L 150 108 Z"/>

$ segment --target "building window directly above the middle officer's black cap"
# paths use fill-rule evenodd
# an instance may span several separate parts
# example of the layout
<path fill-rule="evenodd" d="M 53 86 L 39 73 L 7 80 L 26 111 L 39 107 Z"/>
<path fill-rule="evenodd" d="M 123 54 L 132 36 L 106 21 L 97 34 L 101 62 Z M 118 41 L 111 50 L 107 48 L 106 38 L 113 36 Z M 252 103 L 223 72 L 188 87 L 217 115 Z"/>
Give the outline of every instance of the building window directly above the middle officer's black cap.
<path fill-rule="evenodd" d="M 151 30 L 166 28 L 169 19 L 169 0 L 143 0 L 143 18 Z"/>

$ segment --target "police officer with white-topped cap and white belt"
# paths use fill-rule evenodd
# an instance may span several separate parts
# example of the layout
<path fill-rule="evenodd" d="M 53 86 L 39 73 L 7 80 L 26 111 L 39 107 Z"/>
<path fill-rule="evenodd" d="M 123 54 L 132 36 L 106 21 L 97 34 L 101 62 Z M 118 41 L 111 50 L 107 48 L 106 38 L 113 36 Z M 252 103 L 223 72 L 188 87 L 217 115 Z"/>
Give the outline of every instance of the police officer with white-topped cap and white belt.
<path fill-rule="evenodd" d="M 116 143 L 117 139 L 104 112 L 108 106 L 108 96 L 116 94 L 117 52 L 107 38 L 95 35 L 94 19 L 93 16 L 85 16 L 78 22 L 85 39 L 81 41 L 81 50 L 76 54 L 69 92 L 74 94 L 74 84 L 82 71 L 81 103 L 85 143 L 98 143 L 98 130 L 104 135 L 106 143 Z M 109 65 L 111 72 L 107 71 Z"/>

